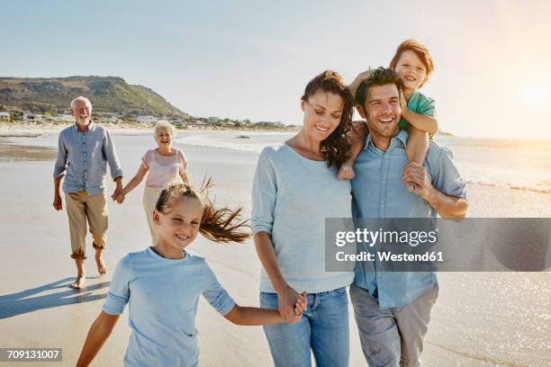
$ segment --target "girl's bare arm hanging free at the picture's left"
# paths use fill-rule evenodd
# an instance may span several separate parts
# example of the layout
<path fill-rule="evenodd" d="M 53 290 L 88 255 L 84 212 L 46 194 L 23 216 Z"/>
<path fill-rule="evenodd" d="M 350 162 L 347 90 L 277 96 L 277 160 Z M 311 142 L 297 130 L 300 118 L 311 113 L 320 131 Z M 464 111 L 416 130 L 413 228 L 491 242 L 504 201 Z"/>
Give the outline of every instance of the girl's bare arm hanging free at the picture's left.
<path fill-rule="evenodd" d="M 109 315 L 104 311 L 100 313 L 88 331 L 85 345 L 78 357 L 77 367 L 87 366 L 92 362 L 105 340 L 111 335 L 119 317 L 120 315 Z"/>

